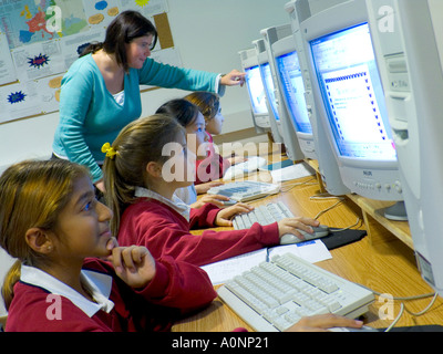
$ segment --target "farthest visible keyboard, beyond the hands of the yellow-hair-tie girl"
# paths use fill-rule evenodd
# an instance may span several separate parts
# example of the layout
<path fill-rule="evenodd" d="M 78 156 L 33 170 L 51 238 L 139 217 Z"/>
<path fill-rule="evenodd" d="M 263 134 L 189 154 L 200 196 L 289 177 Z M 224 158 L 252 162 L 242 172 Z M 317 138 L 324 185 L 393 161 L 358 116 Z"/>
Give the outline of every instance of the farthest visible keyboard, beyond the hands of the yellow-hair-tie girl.
<path fill-rule="evenodd" d="M 244 180 L 213 187 L 207 191 L 207 194 L 226 196 L 236 201 L 249 201 L 275 195 L 279 191 L 279 185 L 257 180 Z"/>

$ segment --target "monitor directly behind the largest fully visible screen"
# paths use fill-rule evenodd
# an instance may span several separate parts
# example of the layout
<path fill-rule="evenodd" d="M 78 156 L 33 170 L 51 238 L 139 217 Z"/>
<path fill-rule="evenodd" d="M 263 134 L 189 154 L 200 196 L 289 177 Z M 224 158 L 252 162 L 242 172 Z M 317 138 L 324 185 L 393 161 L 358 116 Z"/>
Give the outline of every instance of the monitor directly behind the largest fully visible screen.
<path fill-rule="evenodd" d="M 305 100 L 305 83 L 301 75 L 299 55 L 292 35 L 272 44 L 277 81 L 280 86 L 281 103 L 290 118 L 291 128 L 307 158 L 317 159 L 312 126 Z"/>

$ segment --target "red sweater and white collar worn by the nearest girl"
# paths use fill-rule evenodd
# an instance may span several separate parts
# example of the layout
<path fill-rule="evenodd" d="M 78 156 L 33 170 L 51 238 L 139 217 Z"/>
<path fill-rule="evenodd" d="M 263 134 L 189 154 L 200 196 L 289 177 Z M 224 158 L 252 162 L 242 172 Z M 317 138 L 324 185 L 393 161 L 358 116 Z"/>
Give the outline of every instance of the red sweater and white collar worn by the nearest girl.
<path fill-rule="evenodd" d="M 216 296 L 206 272 L 171 257 L 156 260 L 156 274 L 144 289 L 130 288 L 99 259 L 85 260 L 81 281 L 94 302 L 44 271 L 22 266 L 6 331 L 166 331 L 182 313 Z"/>

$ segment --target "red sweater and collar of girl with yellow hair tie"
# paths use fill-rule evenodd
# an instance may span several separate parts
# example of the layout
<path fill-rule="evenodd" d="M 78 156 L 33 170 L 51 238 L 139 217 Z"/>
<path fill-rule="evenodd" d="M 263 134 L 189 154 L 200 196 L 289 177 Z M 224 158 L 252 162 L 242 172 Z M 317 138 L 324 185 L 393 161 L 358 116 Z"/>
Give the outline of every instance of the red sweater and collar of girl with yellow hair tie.
<path fill-rule="evenodd" d="M 192 209 L 144 188 L 137 188 L 136 196 L 140 198 L 123 212 L 117 240 L 122 246 L 145 246 L 154 258 L 171 256 L 203 266 L 279 243 L 277 222 L 195 236 L 190 229 L 215 227 L 218 207 L 207 204 Z"/>

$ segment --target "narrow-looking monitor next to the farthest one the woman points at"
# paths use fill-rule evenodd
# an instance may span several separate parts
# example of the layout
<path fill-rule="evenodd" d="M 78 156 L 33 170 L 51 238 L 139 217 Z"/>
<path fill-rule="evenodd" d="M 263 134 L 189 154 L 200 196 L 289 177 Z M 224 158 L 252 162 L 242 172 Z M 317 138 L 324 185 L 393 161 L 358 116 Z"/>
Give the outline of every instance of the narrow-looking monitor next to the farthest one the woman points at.
<path fill-rule="evenodd" d="M 268 107 L 269 125 L 272 138 L 276 143 L 284 144 L 280 117 L 278 115 L 275 101 L 274 82 L 270 74 L 269 59 L 268 53 L 266 52 L 265 41 L 262 39 L 253 41 L 253 45 L 257 54 L 257 63 L 260 70 L 261 83 L 265 87 L 266 104 Z"/>

